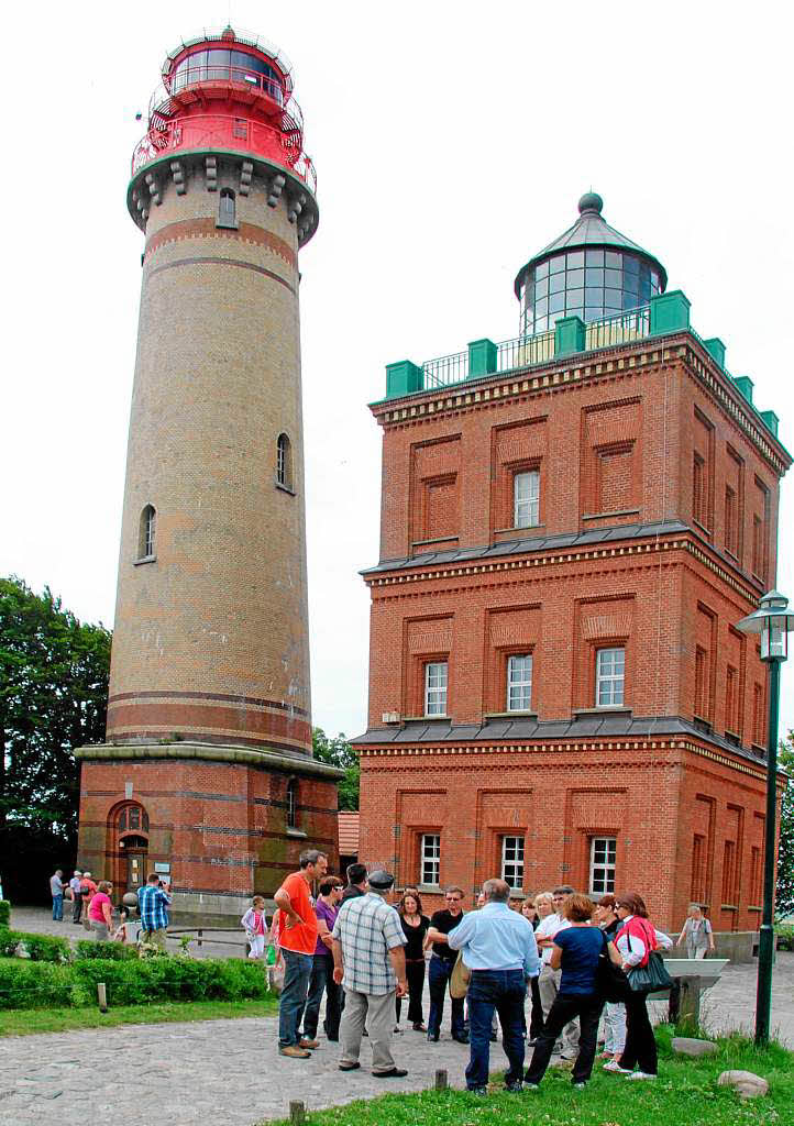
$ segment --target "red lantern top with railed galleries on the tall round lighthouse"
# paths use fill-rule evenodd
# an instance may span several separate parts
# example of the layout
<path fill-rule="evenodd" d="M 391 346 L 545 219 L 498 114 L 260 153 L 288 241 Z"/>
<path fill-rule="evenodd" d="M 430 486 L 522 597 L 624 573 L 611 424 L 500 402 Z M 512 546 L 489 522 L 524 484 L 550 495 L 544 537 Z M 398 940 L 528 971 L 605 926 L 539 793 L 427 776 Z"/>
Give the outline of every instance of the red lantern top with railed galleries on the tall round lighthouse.
<path fill-rule="evenodd" d="M 133 153 L 131 189 L 153 162 L 204 151 L 249 154 L 280 166 L 315 193 L 292 64 L 261 37 L 226 27 L 182 43 L 167 56 L 162 83 L 149 104 L 149 128 Z M 128 202 L 133 218 L 145 227 L 145 208 L 132 190 Z M 302 242 L 309 230 L 304 224 Z"/>

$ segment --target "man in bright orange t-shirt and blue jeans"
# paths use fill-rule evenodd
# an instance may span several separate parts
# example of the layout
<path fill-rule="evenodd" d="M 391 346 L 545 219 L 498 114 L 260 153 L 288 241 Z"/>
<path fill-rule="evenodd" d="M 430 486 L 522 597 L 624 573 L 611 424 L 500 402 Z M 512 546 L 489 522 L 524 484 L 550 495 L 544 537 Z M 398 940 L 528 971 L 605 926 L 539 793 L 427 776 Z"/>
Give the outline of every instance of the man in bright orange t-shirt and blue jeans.
<path fill-rule="evenodd" d="M 322 879 L 328 870 L 328 857 L 318 849 L 301 852 L 301 868 L 284 881 L 274 895 L 279 909 L 278 945 L 284 958 L 284 986 L 278 1004 L 278 1051 L 294 1060 L 307 1060 L 309 1048 L 319 1040 L 298 1039 L 297 1029 L 309 995 L 318 920 L 309 895 L 312 881 Z"/>

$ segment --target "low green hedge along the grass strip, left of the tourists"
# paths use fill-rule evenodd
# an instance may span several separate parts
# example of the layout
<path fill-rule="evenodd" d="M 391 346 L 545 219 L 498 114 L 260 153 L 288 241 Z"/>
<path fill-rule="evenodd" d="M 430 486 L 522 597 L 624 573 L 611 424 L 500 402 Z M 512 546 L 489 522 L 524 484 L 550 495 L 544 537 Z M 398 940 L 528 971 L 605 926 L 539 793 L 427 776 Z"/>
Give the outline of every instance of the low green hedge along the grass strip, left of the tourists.
<path fill-rule="evenodd" d="M 18 962 L 0 963 L 0 1009 L 96 1004 L 98 982 L 105 982 L 110 1006 L 267 995 L 262 967 L 237 958 L 87 958 L 71 965 Z"/>

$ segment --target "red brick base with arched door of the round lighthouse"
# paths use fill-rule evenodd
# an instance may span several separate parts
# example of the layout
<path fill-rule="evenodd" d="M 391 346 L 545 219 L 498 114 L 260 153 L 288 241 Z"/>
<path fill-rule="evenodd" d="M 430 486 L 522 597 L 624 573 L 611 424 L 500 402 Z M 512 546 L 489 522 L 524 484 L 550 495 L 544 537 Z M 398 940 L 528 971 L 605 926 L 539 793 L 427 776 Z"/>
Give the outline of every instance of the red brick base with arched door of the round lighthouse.
<path fill-rule="evenodd" d="M 172 885 L 173 912 L 239 919 L 271 899 L 305 848 L 339 864 L 337 779 L 307 756 L 203 743 L 81 747 L 78 867 L 114 899 L 150 873 Z"/>

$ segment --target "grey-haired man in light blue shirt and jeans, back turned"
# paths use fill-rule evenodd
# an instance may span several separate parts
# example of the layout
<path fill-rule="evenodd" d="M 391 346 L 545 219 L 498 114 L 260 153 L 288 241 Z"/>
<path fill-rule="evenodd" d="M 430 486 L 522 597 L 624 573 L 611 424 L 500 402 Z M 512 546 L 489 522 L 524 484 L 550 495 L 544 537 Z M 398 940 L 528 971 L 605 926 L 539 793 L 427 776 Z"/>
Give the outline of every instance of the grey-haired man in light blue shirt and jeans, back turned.
<path fill-rule="evenodd" d="M 482 891 L 485 905 L 467 914 L 448 937 L 449 946 L 463 951 L 464 965 L 471 971 L 466 1087 L 476 1094 L 488 1092 L 491 1021 L 496 1009 L 510 1063 L 505 1087 L 508 1091 L 520 1091 L 526 983 L 541 972 L 541 959 L 530 923 L 508 906 L 510 888 L 505 881 L 487 879 Z"/>

